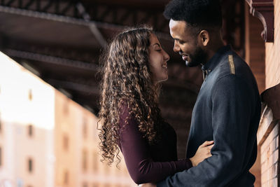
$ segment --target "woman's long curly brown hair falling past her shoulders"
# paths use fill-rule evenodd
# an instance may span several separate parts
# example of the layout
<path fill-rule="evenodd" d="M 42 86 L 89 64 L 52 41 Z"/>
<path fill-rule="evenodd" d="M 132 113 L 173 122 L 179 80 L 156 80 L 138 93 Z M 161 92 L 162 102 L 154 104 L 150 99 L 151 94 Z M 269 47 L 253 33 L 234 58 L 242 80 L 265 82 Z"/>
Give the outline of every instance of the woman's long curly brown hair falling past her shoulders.
<path fill-rule="evenodd" d="M 123 104 L 138 123 L 139 131 L 149 144 L 160 138 L 162 117 L 158 108 L 159 85 L 152 81 L 148 48 L 153 30 L 148 27 L 127 29 L 118 34 L 103 54 L 99 111 L 99 147 L 102 161 L 120 162 L 120 109 Z M 127 125 L 127 119 L 125 120 Z"/>

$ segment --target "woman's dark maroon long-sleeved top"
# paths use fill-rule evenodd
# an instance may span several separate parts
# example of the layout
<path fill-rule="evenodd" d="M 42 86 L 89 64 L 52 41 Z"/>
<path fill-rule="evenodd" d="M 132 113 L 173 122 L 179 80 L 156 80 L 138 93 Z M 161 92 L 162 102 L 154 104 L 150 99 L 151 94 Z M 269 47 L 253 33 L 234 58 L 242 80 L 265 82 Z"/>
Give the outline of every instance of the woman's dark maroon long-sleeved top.
<path fill-rule="evenodd" d="M 132 116 L 128 125 L 125 120 L 129 115 L 127 106 L 120 113 L 120 141 L 128 172 L 133 181 L 156 183 L 167 176 L 192 167 L 189 159 L 177 160 L 176 132 L 168 123 L 164 123 L 160 140 L 152 146 L 139 131 L 137 120 Z"/>

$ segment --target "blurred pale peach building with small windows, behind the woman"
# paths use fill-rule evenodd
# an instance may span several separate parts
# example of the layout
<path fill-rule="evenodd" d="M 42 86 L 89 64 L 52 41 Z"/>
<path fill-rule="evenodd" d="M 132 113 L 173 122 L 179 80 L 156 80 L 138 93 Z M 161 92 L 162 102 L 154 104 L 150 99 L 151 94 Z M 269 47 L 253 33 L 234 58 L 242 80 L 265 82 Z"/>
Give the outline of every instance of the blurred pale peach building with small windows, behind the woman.
<path fill-rule="evenodd" d="M 100 162 L 97 117 L 0 54 L 0 186 L 136 186 Z"/>

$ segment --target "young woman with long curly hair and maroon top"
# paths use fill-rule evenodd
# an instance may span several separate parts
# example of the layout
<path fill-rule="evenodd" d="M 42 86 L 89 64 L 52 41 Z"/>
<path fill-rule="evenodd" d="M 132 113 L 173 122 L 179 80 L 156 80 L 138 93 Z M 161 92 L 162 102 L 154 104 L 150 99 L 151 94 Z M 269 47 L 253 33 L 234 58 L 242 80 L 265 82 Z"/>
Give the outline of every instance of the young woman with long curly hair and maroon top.
<path fill-rule="evenodd" d="M 157 182 L 211 156 L 206 141 L 193 158 L 177 160 L 176 133 L 158 108 L 169 55 L 147 27 L 118 34 L 104 53 L 99 138 L 104 160 L 122 151 L 135 183 Z"/>

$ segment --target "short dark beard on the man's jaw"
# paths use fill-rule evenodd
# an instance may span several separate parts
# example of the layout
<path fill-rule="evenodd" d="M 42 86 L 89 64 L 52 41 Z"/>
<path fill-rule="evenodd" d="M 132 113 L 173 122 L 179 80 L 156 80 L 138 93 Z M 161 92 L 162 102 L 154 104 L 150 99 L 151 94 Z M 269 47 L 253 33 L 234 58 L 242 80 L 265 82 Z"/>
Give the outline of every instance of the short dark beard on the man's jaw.
<path fill-rule="evenodd" d="M 195 53 L 189 55 L 190 62 L 186 60 L 187 67 L 196 67 L 199 64 L 205 64 L 207 61 L 207 53 L 205 53 L 202 48 L 197 47 Z"/>

